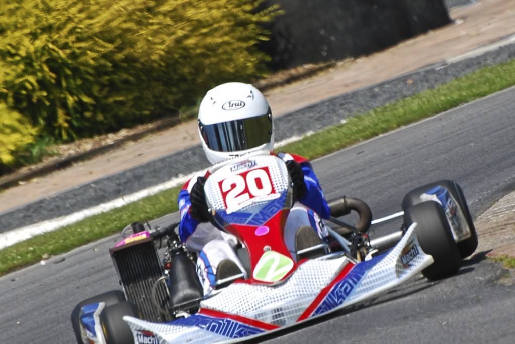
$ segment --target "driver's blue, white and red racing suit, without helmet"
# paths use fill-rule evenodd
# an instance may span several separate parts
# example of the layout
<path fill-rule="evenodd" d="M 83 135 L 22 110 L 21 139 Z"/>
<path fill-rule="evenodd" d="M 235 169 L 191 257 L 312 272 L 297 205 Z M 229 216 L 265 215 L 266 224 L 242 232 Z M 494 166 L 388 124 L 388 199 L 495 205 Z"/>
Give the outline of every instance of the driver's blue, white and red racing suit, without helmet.
<path fill-rule="evenodd" d="M 274 154 L 274 153 L 270 153 Z M 295 233 L 302 226 L 310 226 L 317 231 L 320 238 L 328 236 L 327 228 L 321 219 L 329 219 L 330 209 L 307 159 L 288 153 L 278 153 L 284 161 L 295 160 L 302 168 L 306 192 L 291 208 L 284 228 L 286 246 L 295 257 Z M 230 259 L 238 265 L 244 274 L 245 269 L 236 256 L 234 246 L 236 238 L 229 233 L 215 228 L 211 223 L 200 223 L 193 219 L 190 210 L 190 192 L 197 177 L 205 176 L 202 171 L 195 174 L 179 192 L 178 205 L 180 211 L 179 237 L 188 250 L 199 252 L 196 271 L 203 286 L 204 295 L 212 291 L 215 285 L 216 267 L 224 259 Z"/>

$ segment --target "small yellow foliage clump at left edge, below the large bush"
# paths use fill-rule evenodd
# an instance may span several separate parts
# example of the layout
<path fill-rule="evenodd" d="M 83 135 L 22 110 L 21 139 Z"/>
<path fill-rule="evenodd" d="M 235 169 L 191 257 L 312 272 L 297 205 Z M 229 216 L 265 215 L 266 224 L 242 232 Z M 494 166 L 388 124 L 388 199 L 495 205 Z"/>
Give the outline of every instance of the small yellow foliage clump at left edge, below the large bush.
<path fill-rule="evenodd" d="M 38 130 L 1 101 L 0 123 L 0 167 L 13 166 L 16 153 L 35 140 Z"/>

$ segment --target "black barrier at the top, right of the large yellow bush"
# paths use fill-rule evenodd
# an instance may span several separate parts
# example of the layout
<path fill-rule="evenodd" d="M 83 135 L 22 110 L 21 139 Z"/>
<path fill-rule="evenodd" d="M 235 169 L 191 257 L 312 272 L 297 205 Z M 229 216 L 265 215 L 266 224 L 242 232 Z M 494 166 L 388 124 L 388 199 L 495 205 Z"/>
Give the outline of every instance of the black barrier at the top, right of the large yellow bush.
<path fill-rule="evenodd" d="M 261 49 L 274 70 L 367 55 L 449 24 L 443 0 L 265 0 L 284 13 Z"/>

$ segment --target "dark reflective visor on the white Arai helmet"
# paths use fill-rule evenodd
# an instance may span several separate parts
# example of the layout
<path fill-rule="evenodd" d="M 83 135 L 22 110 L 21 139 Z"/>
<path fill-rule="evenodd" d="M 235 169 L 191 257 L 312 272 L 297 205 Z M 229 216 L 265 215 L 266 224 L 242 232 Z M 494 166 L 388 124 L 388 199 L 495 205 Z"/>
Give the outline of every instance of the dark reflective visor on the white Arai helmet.
<path fill-rule="evenodd" d="M 265 115 L 232 121 L 203 124 L 200 133 L 208 148 L 217 152 L 244 151 L 269 143 L 272 135 L 272 116 Z"/>

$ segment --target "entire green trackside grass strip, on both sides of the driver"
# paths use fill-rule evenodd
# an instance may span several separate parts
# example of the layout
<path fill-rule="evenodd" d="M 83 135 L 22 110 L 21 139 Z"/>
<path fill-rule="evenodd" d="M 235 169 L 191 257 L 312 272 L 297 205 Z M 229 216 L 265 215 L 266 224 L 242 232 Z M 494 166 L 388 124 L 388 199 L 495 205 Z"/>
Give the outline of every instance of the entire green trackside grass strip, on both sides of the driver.
<path fill-rule="evenodd" d="M 346 123 L 286 144 L 281 151 L 314 159 L 403 125 L 433 116 L 515 85 L 515 60 L 483 67 L 424 93 L 356 115 Z M 105 238 L 135 221 L 157 219 L 177 211 L 179 188 L 146 197 L 123 208 L 41 234 L 0 250 L 0 275 Z"/>

